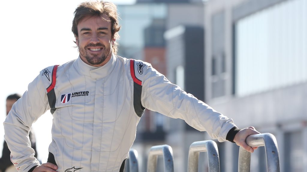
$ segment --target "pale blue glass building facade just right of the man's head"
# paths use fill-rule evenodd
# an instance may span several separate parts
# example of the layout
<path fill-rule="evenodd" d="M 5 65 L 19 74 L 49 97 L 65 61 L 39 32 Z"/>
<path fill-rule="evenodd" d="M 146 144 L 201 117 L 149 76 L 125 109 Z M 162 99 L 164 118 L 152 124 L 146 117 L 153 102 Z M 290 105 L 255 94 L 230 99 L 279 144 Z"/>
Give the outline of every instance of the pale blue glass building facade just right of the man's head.
<path fill-rule="evenodd" d="M 161 3 L 119 5 L 118 12 L 121 25 L 120 39 L 117 40 L 120 45 L 118 55 L 144 60 L 144 47 L 148 44 L 145 43 L 144 30 L 152 25 L 153 21 L 165 19 L 167 6 Z"/>

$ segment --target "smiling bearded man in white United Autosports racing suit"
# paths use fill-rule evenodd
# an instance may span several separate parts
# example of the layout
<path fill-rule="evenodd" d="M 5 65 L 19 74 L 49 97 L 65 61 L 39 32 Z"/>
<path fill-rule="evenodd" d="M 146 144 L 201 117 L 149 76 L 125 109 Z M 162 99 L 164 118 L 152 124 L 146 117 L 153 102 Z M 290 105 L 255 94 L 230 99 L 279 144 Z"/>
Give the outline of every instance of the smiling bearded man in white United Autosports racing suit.
<path fill-rule="evenodd" d="M 150 64 L 116 55 L 120 27 L 113 3 L 84 2 L 74 14 L 72 32 L 80 56 L 43 69 L 4 123 L 12 162 L 20 172 L 123 172 L 145 108 L 254 151 L 245 143 L 258 133 L 253 127 L 239 130 L 232 119 L 170 83 Z M 25 144 L 25 133 L 49 109 L 52 143 L 48 162 L 40 165 Z"/>

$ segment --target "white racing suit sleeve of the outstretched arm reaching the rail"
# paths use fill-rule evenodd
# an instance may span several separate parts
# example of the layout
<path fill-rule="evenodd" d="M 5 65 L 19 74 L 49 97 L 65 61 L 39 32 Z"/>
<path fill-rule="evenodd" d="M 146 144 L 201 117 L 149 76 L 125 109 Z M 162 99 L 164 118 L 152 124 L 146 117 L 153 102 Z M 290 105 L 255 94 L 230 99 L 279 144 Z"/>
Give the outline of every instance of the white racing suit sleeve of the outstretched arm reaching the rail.
<path fill-rule="evenodd" d="M 231 118 L 220 114 L 192 94 L 172 84 L 150 65 L 143 67 L 142 106 L 171 118 L 180 118 L 199 131 L 207 131 L 212 139 L 226 141 L 227 133 L 236 127 Z"/>

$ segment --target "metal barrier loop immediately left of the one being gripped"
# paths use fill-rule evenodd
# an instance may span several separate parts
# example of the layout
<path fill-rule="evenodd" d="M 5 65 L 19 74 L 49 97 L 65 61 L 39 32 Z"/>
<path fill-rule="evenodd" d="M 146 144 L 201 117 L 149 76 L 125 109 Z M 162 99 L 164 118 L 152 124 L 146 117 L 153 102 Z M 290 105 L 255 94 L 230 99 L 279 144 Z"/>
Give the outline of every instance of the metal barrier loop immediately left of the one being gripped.
<path fill-rule="evenodd" d="M 212 140 L 193 142 L 188 155 L 188 172 L 198 171 L 199 152 L 208 152 L 209 172 L 220 172 L 220 158 L 217 145 Z"/>

